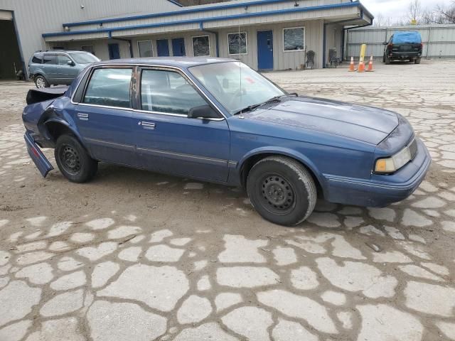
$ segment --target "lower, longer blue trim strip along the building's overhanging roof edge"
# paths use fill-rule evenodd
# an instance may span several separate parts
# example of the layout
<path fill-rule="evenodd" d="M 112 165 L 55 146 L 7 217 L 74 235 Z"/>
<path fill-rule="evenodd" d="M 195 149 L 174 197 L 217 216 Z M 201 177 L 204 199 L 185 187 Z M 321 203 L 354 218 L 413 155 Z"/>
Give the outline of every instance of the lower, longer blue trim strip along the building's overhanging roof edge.
<path fill-rule="evenodd" d="M 266 0 L 272 1 L 272 0 Z M 243 3 L 245 4 L 245 3 Z M 146 23 L 141 25 L 133 26 L 122 26 L 122 27 L 112 27 L 112 28 L 99 28 L 99 29 L 90 29 L 90 30 L 81 30 L 81 31 L 68 31 L 68 32 L 55 32 L 55 33 L 43 33 L 43 38 L 46 37 L 58 37 L 58 36 L 76 36 L 78 34 L 90 34 L 90 33 L 108 33 L 109 35 L 112 32 L 116 31 L 127 31 L 135 30 L 140 28 L 155 28 L 163 26 L 175 26 L 188 23 L 208 23 L 210 21 L 224 21 L 224 20 L 233 20 L 240 18 L 253 18 L 257 16 L 273 16 L 277 14 L 286 14 L 286 13 L 299 13 L 299 12 L 310 12 L 310 11 L 321 11 L 326 9 L 339 9 L 345 7 L 360 7 L 361 4 L 359 1 L 346 2 L 342 4 L 331 4 L 331 5 L 321 5 L 321 6 L 308 6 L 308 7 L 293 7 L 291 9 L 279 9 L 275 11 L 262 11 L 255 13 L 243 13 L 243 14 L 232 14 L 229 16 L 214 16 L 211 18 L 194 18 L 194 19 L 185 19 L 178 21 L 168 21 L 164 23 Z"/>

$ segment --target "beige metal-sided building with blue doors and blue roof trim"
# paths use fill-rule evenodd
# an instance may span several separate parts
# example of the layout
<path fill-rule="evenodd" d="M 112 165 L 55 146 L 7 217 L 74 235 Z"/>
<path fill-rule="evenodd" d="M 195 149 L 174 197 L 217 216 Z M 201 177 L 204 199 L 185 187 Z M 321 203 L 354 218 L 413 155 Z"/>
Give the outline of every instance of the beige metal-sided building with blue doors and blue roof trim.
<path fill-rule="evenodd" d="M 350 0 L 233 0 L 188 7 L 168 0 L 42 0 L 43 20 L 26 23 L 36 21 L 35 8 L 30 0 L 0 0 L 0 13 L 14 11 L 25 64 L 34 50 L 71 48 L 103 60 L 229 57 L 257 70 L 299 69 L 313 51 L 309 66 L 325 67 L 329 55 L 343 53 L 343 30 L 373 22 L 359 1 Z"/>

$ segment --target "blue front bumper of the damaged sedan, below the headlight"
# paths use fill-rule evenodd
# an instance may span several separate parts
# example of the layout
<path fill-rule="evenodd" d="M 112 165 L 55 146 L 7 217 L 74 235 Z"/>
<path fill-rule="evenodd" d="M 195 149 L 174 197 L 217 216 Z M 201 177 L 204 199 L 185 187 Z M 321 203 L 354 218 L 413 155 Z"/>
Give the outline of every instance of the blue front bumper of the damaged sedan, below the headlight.
<path fill-rule="evenodd" d="M 417 139 L 414 159 L 392 175 L 374 175 L 370 180 L 326 175 L 326 200 L 368 207 L 404 200 L 422 183 L 431 163 L 427 147 Z"/>

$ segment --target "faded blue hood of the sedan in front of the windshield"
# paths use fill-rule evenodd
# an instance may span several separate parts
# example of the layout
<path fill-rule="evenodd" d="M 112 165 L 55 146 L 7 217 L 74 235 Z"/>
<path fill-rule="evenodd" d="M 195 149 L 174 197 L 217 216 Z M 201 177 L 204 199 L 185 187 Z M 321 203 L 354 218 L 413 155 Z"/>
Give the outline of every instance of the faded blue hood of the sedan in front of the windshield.
<path fill-rule="evenodd" d="M 311 97 L 286 97 L 269 109 L 245 114 L 274 124 L 286 124 L 379 144 L 398 125 L 395 112 Z"/>

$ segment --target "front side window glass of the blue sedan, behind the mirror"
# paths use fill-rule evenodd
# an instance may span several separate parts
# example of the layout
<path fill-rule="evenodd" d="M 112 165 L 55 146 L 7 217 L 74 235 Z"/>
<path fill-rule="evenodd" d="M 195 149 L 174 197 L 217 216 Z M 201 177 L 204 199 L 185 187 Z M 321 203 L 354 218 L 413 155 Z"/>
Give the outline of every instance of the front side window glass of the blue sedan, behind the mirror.
<path fill-rule="evenodd" d="M 141 104 L 149 112 L 188 115 L 191 108 L 207 102 L 180 73 L 143 70 Z"/>

